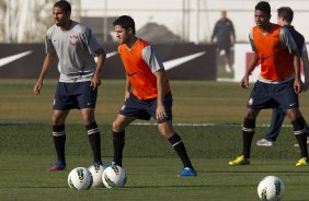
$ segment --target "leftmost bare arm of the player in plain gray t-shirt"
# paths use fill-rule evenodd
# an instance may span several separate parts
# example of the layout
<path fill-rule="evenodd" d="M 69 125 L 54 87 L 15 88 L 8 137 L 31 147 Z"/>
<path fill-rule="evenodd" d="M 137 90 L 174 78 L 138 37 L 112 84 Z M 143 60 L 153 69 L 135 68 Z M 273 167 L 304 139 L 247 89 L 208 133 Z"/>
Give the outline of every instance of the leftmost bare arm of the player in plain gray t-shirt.
<path fill-rule="evenodd" d="M 41 90 L 43 87 L 43 80 L 45 79 L 45 76 L 46 76 L 46 74 L 48 72 L 48 69 L 50 68 L 50 66 L 52 66 L 53 61 L 55 60 L 55 58 L 56 58 L 56 54 L 55 52 L 46 54 L 44 62 L 43 62 L 41 74 L 39 74 L 35 85 L 34 85 L 34 88 L 33 88 L 34 94 L 39 95 Z"/>

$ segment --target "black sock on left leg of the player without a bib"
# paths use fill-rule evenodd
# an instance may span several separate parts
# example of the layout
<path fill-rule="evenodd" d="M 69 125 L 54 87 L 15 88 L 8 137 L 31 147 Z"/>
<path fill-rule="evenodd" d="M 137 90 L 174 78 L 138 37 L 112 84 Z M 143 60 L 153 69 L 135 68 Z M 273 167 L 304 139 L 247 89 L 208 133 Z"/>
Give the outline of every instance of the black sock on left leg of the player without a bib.
<path fill-rule="evenodd" d="M 66 165 L 66 130 L 65 125 L 53 126 L 53 139 L 57 153 L 57 159 Z"/>

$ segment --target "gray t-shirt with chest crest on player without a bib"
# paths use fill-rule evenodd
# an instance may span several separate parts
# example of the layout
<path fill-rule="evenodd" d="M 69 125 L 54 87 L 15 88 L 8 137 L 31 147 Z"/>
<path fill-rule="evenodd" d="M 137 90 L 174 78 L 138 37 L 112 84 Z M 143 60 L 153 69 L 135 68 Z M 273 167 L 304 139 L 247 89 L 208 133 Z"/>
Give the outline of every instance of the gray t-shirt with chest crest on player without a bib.
<path fill-rule="evenodd" d="M 57 25 L 48 28 L 45 39 L 47 52 L 56 52 L 59 59 L 60 82 L 83 82 L 95 71 L 94 51 L 101 48 L 87 26 L 71 21 L 69 31 Z"/>

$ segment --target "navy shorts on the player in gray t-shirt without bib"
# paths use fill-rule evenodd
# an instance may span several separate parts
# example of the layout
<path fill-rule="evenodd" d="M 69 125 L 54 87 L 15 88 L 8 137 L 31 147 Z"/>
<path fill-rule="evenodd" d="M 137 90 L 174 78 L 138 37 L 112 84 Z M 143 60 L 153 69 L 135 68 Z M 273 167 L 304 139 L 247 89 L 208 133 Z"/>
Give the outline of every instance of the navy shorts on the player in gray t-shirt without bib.
<path fill-rule="evenodd" d="M 95 108 L 98 88 L 90 86 L 90 81 L 65 83 L 58 82 L 53 109 Z"/>

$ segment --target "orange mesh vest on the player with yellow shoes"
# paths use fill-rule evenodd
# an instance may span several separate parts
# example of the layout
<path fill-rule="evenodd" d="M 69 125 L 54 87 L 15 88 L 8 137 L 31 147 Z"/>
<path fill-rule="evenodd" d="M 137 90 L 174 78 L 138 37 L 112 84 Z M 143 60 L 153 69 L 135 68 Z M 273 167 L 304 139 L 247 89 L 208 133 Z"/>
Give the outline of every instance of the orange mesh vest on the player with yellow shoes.
<path fill-rule="evenodd" d="M 261 61 L 261 76 L 266 80 L 282 81 L 294 73 L 293 57 L 281 43 L 281 26 L 272 24 L 266 35 L 258 26 L 252 31 L 253 42 Z"/>

